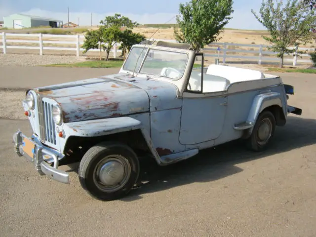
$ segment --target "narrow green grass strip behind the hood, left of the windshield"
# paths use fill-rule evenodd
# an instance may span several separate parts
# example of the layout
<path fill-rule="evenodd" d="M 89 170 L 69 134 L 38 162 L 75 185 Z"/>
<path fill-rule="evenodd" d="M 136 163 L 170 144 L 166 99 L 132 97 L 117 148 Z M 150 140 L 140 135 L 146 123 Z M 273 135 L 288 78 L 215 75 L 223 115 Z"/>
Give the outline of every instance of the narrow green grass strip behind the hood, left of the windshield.
<path fill-rule="evenodd" d="M 66 68 L 120 68 L 123 61 L 87 61 L 80 63 L 61 63 L 61 64 L 48 64 L 45 67 L 66 67 Z"/>

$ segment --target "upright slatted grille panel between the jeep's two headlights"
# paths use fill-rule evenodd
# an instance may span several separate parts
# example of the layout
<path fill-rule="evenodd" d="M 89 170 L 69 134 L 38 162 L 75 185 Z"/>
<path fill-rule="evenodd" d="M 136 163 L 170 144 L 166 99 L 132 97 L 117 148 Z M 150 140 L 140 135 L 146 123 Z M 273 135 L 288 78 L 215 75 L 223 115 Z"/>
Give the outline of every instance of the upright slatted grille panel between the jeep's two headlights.
<path fill-rule="evenodd" d="M 41 103 L 41 109 L 39 109 L 39 116 L 40 120 L 42 121 L 43 124 L 40 124 L 41 126 L 41 131 L 44 132 L 45 134 L 41 134 L 41 138 L 43 138 L 45 141 L 56 145 L 57 140 L 56 140 L 56 130 L 55 130 L 55 122 L 52 117 L 52 109 L 53 105 L 47 101 L 42 101 Z M 41 110 L 41 111 L 40 111 Z"/>

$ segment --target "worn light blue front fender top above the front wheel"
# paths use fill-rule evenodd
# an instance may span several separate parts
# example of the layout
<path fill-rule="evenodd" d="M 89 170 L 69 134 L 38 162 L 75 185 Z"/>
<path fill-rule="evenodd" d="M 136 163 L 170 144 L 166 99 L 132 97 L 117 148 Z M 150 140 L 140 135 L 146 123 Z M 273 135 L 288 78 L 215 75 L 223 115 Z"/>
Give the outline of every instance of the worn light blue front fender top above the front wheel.
<path fill-rule="evenodd" d="M 119 117 L 65 123 L 63 130 L 67 137 L 97 137 L 113 133 L 126 132 L 141 127 L 135 118 Z"/>

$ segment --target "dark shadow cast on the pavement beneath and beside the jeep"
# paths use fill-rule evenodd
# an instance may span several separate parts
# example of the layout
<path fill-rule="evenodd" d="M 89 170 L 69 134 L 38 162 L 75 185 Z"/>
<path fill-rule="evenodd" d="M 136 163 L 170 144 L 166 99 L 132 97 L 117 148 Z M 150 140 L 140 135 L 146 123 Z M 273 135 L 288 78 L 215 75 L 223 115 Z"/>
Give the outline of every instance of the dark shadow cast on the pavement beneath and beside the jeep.
<path fill-rule="evenodd" d="M 285 126 L 276 127 L 270 147 L 264 152 L 249 151 L 237 140 L 205 149 L 195 157 L 168 166 L 158 166 L 153 159 L 142 159 L 138 185 L 121 201 L 137 200 L 144 194 L 190 183 L 222 179 L 243 171 L 236 164 L 313 144 L 316 144 L 316 119 L 290 115 Z"/>

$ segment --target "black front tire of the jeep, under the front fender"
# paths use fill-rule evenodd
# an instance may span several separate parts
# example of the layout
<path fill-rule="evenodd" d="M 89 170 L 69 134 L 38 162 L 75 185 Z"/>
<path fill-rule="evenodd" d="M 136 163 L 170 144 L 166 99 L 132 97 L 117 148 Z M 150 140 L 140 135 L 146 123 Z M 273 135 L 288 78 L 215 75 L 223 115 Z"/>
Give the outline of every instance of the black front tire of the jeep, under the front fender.
<path fill-rule="evenodd" d="M 111 159 L 114 160 L 111 161 Z M 110 161 L 112 162 L 112 165 L 109 164 Z M 96 174 L 100 174 L 103 169 L 105 170 L 103 174 L 106 173 L 107 175 L 103 177 L 109 178 L 111 176 L 111 178 L 113 178 L 114 172 L 114 179 L 117 178 L 117 170 L 111 170 L 111 168 L 107 169 L 107 167 L 116 166 L 114 165 L 114 162 L 116 162 L 115 164 L 119 167 L 122 167 L 120 168 L 121 170 L 124 170 L 123 184 L 118 182 L 117 186 L 107 186 L 102 183 L 100 178 L 101 175 L 97 176 Z M 109 166 L 105 167 L 106 163 L 108 163 Z M 99 166 L 101 166 L 100 169 L 98 169 Z M 81 159 L 79 165 L 79 181 L 82 188 L 91 197 L 102 201 L 115 200 L 124 197 L 129 193 L 138 179 L 139 169 L 137 155 L 130 147 L 121 143 L 102 142 L 91 147 Z M 100 172 L 98 172 L 98 170 Z"/>

